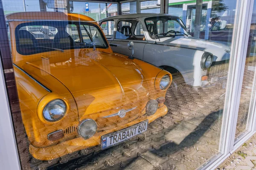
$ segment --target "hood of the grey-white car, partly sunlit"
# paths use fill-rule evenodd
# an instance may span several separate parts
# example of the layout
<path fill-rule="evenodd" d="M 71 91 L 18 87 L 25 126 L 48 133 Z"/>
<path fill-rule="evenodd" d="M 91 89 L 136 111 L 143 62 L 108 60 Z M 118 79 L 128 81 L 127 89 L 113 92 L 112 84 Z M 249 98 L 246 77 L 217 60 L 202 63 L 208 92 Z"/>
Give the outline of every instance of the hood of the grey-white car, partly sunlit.
<path fill-rule="evenodd" d="M 214 62 L 230 59 L 230 47 L 214 41 L 197 39 L 194 37 L 176 36 L 174 38 L 163 38 L 163 40 L 157 42 L 157 44 L 207 51 L 213 54 Z"/>

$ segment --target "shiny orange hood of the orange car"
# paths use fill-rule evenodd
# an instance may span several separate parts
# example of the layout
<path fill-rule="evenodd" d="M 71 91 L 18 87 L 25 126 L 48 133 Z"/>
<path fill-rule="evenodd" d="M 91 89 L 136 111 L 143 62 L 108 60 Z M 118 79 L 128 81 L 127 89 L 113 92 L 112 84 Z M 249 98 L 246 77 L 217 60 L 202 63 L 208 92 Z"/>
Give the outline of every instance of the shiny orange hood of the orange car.
<path fill-rule="evenodd" d="M 125 56 L 86 49 L 57 53 L 28 61 L 23 69 L 32 76 L 36 74 L 33 69 L 40 69 L 41 73 L 37 72 L 41 75 L 35 75 L 38 81 L 45 74 L 58 79 L 73 95 L 79 117 L 85 112 L 111 110 L 149 96 L 148 80 L 138 65 Z"/>

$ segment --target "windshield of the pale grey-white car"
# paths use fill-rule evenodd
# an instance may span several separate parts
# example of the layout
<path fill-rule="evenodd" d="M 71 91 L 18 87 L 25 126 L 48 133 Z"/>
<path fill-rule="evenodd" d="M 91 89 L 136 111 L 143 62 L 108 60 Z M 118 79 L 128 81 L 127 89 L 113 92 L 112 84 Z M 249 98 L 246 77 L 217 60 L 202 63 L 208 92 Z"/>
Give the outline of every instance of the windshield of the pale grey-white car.
<path fill-rule="evenodd" d="M 175 17 L 157 16 L 145 19 L 148 33 L 152 38 L 189 36 L 183 22 Z"/>

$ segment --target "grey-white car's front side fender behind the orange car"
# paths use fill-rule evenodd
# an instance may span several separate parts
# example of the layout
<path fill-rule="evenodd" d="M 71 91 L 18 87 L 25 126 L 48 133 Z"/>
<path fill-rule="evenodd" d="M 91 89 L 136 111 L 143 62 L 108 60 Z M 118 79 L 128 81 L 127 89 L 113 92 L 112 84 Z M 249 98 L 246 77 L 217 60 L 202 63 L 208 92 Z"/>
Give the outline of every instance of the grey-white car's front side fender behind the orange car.
<path fill-rule="evenodd" d="M 171 45 L 145 45 L 143 60 L 156 66 L 167 65 L 177 69 L 185 82 L 192 86 L 201 86 L 201 76 L 206 71 L 201 68 L 204 51 Z"/>

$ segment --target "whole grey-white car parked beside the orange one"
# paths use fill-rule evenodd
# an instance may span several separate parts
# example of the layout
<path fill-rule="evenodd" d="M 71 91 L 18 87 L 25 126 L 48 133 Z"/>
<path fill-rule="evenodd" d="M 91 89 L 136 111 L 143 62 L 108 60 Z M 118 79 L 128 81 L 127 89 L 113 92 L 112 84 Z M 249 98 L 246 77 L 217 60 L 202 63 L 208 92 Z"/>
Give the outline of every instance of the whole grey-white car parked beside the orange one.
<path fill-rule="evenodd" d="M 113 32 L 107 39 L 114 52 L 130 55 L 127 44 L 133 41 L 134 57 L 172 73 L 175 86 L 177 78 L 193 87 L 207 86 L 228 73 L 230 47 L 192 37 L 177 16 L 126 14 L 105 18 L 100 26 L 108 28 L 108 35 Z"/>

